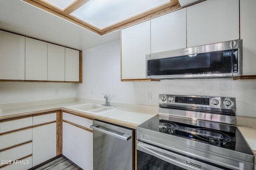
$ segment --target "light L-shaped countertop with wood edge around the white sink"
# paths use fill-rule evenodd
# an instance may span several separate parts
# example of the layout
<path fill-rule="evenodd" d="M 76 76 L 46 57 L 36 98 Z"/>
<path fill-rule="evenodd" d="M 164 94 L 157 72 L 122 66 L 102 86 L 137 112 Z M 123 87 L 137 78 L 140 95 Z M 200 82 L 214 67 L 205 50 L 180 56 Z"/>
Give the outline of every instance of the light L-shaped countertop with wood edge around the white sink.
<path fill-rule="evenodd" d="M 26 104 L 0 105 L 0 109 L 2 109 L 2 112 L 0 113 L 0 120 L 13 118 L 13 117 L 20 117 L 25 115 L 33 115 L 37 113 L 44 113 L 48 111 L 57 111 L 62 109 L 63 111 L 74 113 L 76 115 L 80 115 L 90 119 L 100 119 L 103 121 L 110 121 L 111 123 L 126 125 L 128 127 L 132 127 L 136 129 L 136 126 L 140 125 L 144 121 L 150 119 L 151 117 L 157 114 L 157 112 L 152 112 L 152 111 L 150 112 L 146 108 L 130 109 L 130 108 L 124 108 L 124 107 L 119 107 L 117 109 L 105 111 L 99 114 L 91 114 L 91 113 L 86 113 L 85 111 L 77 111 L 69 107 L 69 106 L 84 104 L 86 102 L 75 101 L 72 99 L 68 99 L 68 100 L 64 100 L 56 103 L 54 102 L 56 101 L 52 101 L 52 103 L 50 102 L 50 104 L 47 102 L 43 102 L 44 104 L 40 104 L 36 102 L 31 104 L 26 103 Z M 146 106 L 140 106 L 140 107 L 146 107 Z"/>

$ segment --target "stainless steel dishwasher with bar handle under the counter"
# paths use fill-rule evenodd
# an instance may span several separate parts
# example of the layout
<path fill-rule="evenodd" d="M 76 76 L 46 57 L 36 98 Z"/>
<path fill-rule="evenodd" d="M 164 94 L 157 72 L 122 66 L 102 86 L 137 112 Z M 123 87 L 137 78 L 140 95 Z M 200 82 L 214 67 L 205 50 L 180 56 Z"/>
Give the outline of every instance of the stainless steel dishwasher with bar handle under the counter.
<path fill-rule="evenodd" d="M 134 170 L 134 129 L 94 120 L 93 169 Z"/>

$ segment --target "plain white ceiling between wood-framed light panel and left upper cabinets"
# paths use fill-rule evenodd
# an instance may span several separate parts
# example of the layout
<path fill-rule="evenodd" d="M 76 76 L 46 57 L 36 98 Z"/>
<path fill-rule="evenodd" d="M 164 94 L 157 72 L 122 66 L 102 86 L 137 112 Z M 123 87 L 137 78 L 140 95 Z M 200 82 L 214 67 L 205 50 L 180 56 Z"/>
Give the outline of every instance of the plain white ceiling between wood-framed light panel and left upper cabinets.
<path fill-rule="evenodd" d="M 22 0 L 0 0 L 0 29 L 78 50 L 120 40 L 120 30 L 98 35 Z"/>

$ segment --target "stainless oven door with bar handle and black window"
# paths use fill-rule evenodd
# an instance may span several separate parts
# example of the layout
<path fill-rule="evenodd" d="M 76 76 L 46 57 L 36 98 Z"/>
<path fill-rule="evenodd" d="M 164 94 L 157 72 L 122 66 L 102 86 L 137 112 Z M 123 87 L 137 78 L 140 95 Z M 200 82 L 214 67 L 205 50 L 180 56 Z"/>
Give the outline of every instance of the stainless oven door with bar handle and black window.
<path fill-rule="evenodd" d="M 137 141 L 137 170 L 230 170 Z"/>

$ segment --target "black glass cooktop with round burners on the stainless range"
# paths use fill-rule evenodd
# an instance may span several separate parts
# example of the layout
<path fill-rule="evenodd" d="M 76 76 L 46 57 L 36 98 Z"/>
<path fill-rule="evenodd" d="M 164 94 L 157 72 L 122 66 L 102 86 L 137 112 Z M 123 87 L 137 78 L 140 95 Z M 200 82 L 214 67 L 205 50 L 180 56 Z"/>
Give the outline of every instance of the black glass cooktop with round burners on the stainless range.
<path fill-rule="evenodd" d="M 166 135 L 204 143 L 206 145 L 253 155 L 252 150 L 247 145 L 237 127 L 230 125 L 225 126 L 227 126 L 227 128 L 210 129 L 202 126 L 199 127 L 185 123 L 159 120 L 159 116 L 156 115 L 139 125 L 137 131 L 146 129 L 149 135 L 154 135 L 154 133 L 164 133 Z M 212 127 L 216 127 L 216 125 L 212 125 Z"/>

